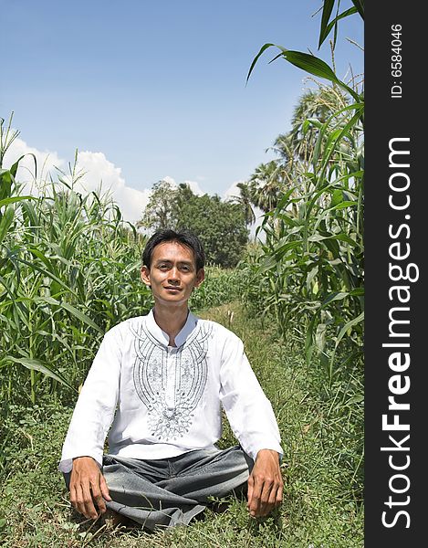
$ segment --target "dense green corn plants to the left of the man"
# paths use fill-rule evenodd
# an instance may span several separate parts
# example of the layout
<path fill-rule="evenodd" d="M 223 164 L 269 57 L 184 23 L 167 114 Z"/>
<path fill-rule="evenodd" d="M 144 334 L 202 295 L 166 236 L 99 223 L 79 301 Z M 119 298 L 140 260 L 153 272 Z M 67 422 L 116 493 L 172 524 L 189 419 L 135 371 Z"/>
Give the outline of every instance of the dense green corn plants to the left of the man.
<path fill-rule="evenodd" d="M 23 195 L 19 161 L 0 172 L 1 392 L 34 404 L 71 396 L 103 333 L 148 311 L 150 293 L 139 276 L 145 238 L 108 196 L 75 190 L 76 163 Z"/>

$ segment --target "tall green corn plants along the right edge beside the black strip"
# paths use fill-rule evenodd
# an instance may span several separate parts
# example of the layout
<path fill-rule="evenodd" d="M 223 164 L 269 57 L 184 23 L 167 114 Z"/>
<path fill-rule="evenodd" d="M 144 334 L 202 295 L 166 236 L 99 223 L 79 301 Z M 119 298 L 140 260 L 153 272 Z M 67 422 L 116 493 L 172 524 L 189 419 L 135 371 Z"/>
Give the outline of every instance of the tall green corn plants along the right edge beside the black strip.
<path fill-rule="evenodd" d="M 363 16 L 356 1 L 331 19 L 334 4 L 324 2 L 319 46 L 341 18 Z M 265 215 L 262 254 L 251 269 L 264 279 L 259 306 L 277 315 L 284 334 L 297 329 L 305 336 L 307 362 L 317 349 L 331 382 L 335 369 L 360 362 L 362 354 L 364 99 L 358 82 L 339 80 L 321 59 L 273 44 L 260 49 L 248 78 L 269 47 L 279 49 L 272 60 L 284 58 L 331 84 L 318 84 L 312 116 L 278 140 L 286 151 L 278 166 L 287 177 Z"/>

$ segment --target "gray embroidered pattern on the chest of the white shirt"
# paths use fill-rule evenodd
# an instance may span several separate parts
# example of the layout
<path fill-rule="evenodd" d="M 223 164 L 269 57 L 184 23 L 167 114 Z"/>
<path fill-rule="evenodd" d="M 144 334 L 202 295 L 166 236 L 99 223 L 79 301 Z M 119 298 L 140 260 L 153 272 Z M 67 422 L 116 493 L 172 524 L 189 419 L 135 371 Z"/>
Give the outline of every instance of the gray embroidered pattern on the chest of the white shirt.
<path fill-rule="evenodd" d="M 194 332 L 177 348 L 173 357 L 175 374 L 168 378 L 168 351 L 158 342 L 146 326 L 136 332 L 137 358 L 133 380 L 137 394 L 149 412 L 151 436 L 168 441 L 183 437 L 193 424 L 193 411 L 197 406 L 207 378 L 206 353 L 212 326 L 201 322 Z M 167 382 L 173 384 L 173 401 L 167 401 Z"/>

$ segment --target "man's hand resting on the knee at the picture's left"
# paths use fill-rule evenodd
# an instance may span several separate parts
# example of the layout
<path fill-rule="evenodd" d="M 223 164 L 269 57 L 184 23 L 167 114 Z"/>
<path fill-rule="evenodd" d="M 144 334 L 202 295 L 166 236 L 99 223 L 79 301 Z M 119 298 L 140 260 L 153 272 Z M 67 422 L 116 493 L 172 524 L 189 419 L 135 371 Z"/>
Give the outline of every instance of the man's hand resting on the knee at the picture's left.
<path fill-rule="evenodd" d="M 106 480 L 92 457 L 73 458 L 70 478 L 70 501 L 74 508 L 86 518 L 95 520 L 106 509 L 105 501 L 111 501 Z"/>

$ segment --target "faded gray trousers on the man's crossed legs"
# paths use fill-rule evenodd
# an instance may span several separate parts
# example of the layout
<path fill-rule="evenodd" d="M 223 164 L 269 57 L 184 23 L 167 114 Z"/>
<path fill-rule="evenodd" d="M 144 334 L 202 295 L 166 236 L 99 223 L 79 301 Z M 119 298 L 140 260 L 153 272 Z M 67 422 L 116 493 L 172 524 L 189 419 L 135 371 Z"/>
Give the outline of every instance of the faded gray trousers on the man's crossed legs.
<path fill-rule="evenodd" d="M 104 455 L 102 473 L 112 499 L 106 506 L 151 531 L 187 525 L 204 511 L 208 497 L 244 490 L 253 464 L 239 446 L 153 460 Z"/>

